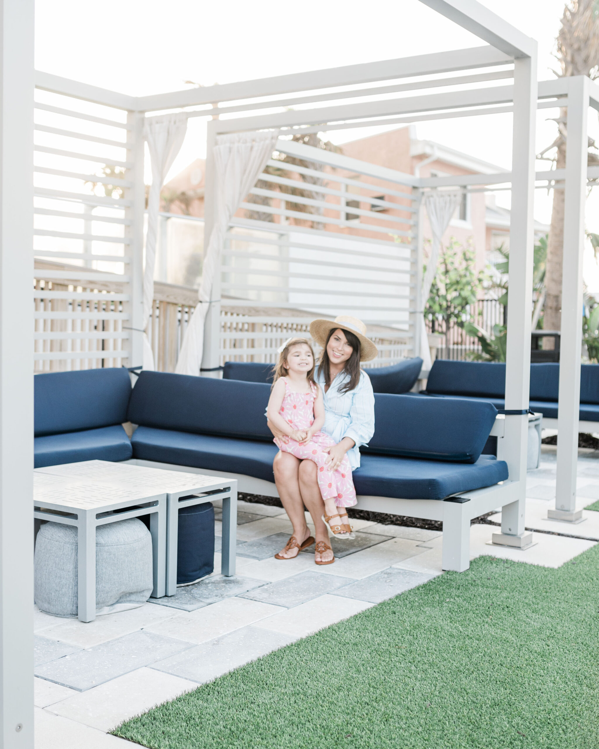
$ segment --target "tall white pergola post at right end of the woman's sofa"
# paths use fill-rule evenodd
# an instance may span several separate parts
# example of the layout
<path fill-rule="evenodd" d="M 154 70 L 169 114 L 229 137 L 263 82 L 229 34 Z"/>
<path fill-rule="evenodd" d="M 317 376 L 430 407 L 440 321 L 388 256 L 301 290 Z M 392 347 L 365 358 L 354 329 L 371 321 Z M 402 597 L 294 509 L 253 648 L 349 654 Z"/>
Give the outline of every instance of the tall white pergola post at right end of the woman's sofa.
<path fill-rule="evenodd" d="M 537 61 L 514 60 L 514 134 L 511 157 L 510 303 L 505 366 L 505 408 L 529 407 L 532 253 L 535 199 L 535 124 Z M 505 416 L 504 460 L 514 484 L 514 501 L 503 507 L 501 533 L 493 543 L 526 548 L 532 533 L 524 530 L 528 415 Z"/>

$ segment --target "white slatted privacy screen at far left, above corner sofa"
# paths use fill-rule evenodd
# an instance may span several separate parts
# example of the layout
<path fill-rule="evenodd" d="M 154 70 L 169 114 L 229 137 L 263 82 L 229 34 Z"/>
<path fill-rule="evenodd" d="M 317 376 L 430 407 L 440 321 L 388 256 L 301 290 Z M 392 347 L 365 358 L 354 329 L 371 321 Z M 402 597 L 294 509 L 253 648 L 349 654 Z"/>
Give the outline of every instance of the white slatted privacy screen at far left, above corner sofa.
<path fill-rule="evenodd" d="M 36 90 L 35 371 L 127 366 L 127 112 Z"/>

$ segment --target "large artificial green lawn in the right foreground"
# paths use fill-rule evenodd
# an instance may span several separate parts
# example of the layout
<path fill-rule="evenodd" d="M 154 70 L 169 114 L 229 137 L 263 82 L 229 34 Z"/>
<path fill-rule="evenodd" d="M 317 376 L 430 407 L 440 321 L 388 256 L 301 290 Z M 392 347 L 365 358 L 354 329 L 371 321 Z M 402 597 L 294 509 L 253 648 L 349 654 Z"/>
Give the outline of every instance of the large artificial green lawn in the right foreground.
<path fill-rule="evenodd" d="M 599 545 L 559 569 L 479 557 L 114 733 L 153 749 L 597 749 L 598 572 Z"/>

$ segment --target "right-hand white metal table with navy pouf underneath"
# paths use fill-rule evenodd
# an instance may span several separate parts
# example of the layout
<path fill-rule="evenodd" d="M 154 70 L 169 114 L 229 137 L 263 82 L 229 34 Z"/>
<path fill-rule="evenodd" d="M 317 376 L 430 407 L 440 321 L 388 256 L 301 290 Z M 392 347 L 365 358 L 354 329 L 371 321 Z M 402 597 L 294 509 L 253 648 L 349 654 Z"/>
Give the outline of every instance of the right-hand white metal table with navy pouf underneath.
<path fill-rule="evenodd" d="M 47 468 L 38 468 L 46 475 L 63 479 L 109 484 L 130 491 L 166 495 L 166 562 L 165 594 L 177 592 L 177 531 L 179 509 L 213 500 L 222 500 L 222 550 L 221 574 L 235 574 L 235 547 L 237 544 L 237 480 L 219 476 L 203 476 L 137 466 L 131 463 L 109 461 L 83 461 Z M 132 516 L 133 517 L 133 516 Z M 165 595 L 162 593 L 162 595 Z"/>

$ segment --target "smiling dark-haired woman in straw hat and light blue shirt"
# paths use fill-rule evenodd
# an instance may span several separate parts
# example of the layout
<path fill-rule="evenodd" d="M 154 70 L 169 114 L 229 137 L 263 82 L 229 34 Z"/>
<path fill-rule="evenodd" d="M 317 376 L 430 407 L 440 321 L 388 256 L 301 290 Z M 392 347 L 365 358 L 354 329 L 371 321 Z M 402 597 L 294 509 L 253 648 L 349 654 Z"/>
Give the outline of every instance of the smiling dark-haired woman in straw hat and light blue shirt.
<path fill-rule="evenodd" d="M 366 326 L 361 320 L 344 315 L 335 318 L 335 321 L 314 320 L 310 325 L 310 334 L 323 348 L 316 380 L 324 396 L 323 431 L 335 440 L 335 445 L 329 451 L 330 470 L 334 471 L 347 454 L 354 471 L 360 464 L 359 446 L 368 443 L 374 434 L 374 394 L 368 375 L 360 369 L 360 363 L 374 359 L 377 347 L 366 337 Z M 270 422 L 269 428 L 275 437 L 285 438 Z M 273 470 L 279 497 L 294 527 L 294 535 L 279 553 L 279 559 L 297 557 L 301 545 L 310 536 L 305 522 L 305 507 L 314 523 L 314 560 L 330 562 L 334 556 L 328 543 L 326 525 L 321 519 L 324 503 L 318 488 L 316 464 L 309 460 L 300 461 L 289 452 L 279 451 Z"/>

